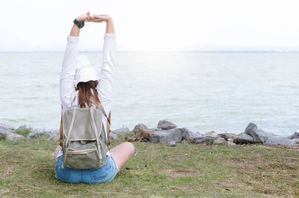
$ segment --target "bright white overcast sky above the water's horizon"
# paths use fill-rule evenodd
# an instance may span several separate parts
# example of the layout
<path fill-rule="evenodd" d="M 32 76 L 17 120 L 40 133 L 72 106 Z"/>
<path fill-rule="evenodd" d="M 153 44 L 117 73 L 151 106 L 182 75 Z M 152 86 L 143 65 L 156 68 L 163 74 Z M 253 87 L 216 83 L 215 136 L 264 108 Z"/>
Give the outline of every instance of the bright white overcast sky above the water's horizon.
<path fill-rule="evenodd" d="M 64 51 L 78 15 L 109 14 L 118 51 L 299 50 L 298 0 L 0 0 L 0 51 Z M 80 51 L 101 51 L 105 22 Z"/>

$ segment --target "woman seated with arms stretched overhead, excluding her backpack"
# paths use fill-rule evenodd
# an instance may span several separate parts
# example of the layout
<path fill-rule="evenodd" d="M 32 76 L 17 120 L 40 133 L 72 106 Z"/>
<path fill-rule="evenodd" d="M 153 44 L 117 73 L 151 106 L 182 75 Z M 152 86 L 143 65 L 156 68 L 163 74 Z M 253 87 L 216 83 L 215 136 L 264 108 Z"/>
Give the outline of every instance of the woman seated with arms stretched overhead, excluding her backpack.
<path fill-rule="evenodd" d="M 80 28 L 85 22 L 106 22 L 104 34 L 102 68 L 91 65 L 85 55 L 78 56 Z M 108 115 L 112 103 L 112 89 L 114 83 L 114 58 L 116 53 L 116 35 L 112 18 L 102 14 L 93 16 L 87 14 L 78 16 L 65 50 L 62 71 L 60 76 L 60 99 L 63 111 L 73 108 L 90 107 L 90 95 L 101 101 Z M 72 96 L 75 96 L 72 102 Z M 86 102 L 86 104 L 84 103 Z M 107 118 L 103 115 L 103 124 L 107 133 Z M 63 166 L 61 147 L 55 150 L 55 177 L 67 183 L 96 184 L 113 180 L 116 174 L 124 167 L 134 153 L 134 146 L 130 142 L 122 143 L 107 152 L 106 165 L 98 169 L 70 169 Z"/>

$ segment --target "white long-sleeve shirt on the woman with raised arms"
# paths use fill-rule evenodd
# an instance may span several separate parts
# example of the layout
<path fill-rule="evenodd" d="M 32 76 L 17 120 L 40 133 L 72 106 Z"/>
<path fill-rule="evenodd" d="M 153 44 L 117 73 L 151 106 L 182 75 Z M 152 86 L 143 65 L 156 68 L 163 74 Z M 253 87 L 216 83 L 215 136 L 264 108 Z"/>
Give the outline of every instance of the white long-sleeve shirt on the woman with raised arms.
<path fill-rule="evenodd" d="M 63 112 L 71 108 L 72 93 L 76 91 L 74 84 L 76 72 L 76 57 L 78 55 L 79 36 L 68 36 L 68 43 L 65 49 L 64 58 L 62 62 L 62 70 L 60 76 L 60 100 Z M 98 97 L 107 114 L 111 110 L 112 103 L 112 89 L 114 83 L 115 71 L 115 54 L 116 54 L 116 35 L 111 33 L 104 34 L 103 45 L 103 61 L 101 68 L 101 78 L 97 86 Z M 73 108 L 78 108 L 78 93 L 76 91 L 76 99 L 73 103 Z M 103 124 L 107 134 L 107 118 L 103 115 Z"/>

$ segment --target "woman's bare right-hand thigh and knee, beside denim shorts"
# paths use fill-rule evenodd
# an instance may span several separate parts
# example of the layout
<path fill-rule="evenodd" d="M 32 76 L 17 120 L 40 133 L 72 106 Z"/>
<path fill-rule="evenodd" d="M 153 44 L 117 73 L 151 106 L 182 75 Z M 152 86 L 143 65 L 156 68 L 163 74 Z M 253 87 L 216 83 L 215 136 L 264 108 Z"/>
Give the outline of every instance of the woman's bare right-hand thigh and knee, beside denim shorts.
<path fill-rule="evenodd" d="M 131 142 L 125 142 L 114 147 L 109 152 L 113 156 L 117 168 L 121 170 L 134 154 L 135 148 Z"/>

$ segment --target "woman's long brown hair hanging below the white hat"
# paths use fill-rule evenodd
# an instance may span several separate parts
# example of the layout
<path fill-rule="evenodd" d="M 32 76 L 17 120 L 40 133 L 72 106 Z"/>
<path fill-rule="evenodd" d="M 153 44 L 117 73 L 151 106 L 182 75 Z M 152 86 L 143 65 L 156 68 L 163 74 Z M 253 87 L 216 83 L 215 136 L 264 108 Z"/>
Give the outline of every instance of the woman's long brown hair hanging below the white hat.
<path fill-rule="evenodd" d="M 80 108 L 86 108 L 87 106 L 85 106 L 85 103 L 87 103 L 88 107 L 91 107 L 90 105 L 90 95 L 92 95 L 91 90 L 94 93 L 94 96 L 96 98 L 96 100 L 98 102 L 100 102 L 100 99 L 98 97 L 97 94 L 97 85 L 98 85 L 99 81 L 88 81 L 88 82 L 80 82 L 77 85 L 77 90 L 79 90 L 79 94 L 78 94 L 78 103 L 79 103 L 79 107 Z"/>

